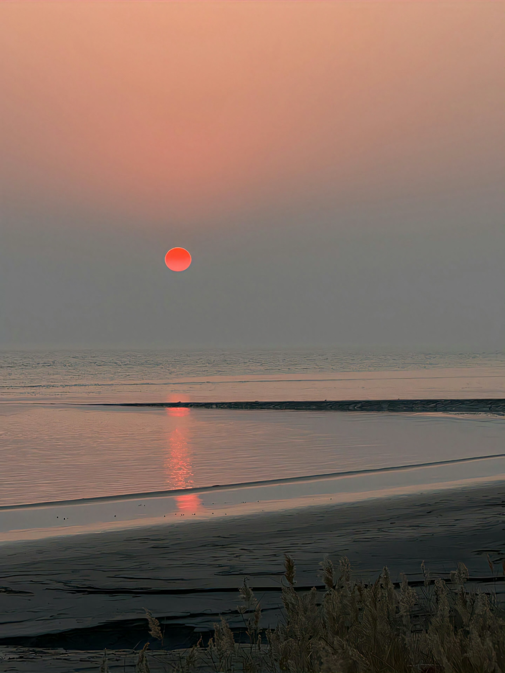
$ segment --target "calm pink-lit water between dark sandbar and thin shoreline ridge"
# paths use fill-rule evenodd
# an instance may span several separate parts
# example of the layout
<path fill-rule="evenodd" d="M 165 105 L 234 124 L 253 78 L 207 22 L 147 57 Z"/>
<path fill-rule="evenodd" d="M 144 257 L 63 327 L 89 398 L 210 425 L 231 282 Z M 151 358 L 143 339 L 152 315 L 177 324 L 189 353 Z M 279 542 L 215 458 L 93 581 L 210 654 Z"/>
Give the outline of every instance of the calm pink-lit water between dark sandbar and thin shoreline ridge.
<path fill-rule="evenodd" d="M 503 450 L 485 415 L 5 404 L 0 504 L 283 479 Z"/>

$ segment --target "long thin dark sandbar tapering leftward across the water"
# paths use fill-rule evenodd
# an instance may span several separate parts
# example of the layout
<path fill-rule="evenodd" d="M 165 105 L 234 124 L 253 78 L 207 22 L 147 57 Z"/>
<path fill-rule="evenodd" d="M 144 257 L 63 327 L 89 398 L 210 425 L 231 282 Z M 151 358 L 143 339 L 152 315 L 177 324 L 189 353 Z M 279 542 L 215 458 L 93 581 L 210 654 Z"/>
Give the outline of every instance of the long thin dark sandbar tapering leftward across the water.
<path fill-rule="evenodd" d="M 393 411 L 505 413 L 505 398 L 467 400 L 302 400 L 288 402 L 120 402 L 100 406 L 151 406 L 167 409 L 273 409 L 275 411 Z"/>

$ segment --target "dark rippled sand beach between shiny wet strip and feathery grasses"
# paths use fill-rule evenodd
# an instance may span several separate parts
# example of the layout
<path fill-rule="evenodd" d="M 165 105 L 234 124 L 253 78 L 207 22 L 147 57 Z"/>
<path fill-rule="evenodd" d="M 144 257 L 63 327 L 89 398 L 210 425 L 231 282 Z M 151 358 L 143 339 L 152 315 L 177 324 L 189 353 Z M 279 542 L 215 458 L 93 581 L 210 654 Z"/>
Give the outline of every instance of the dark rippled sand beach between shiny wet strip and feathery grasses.
<path fill-rule="evenodd" d="M 296 559 L 299 588 L 321 584 L 317 568 L 326 553 L 347 555 L 364 578 L 387 563 L 393 580 L 401 572 L 419 580 L 424 560 L 435 574 L 463 561 L 471 577 L 490 579 L 487 553 L 497 569 L 504 554 L 503 503 L 502 483 L 492 483 L 5 544 L 1 644 L 133 647 L 147 639 L 145 606 L 166 625 L 166 644 L 184 647 L 219 614 L 240 625 L 244 577 L 261 598 L 263 625 L 275 625 L 285 552 Z"/>

